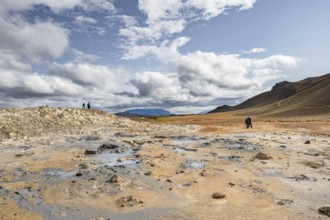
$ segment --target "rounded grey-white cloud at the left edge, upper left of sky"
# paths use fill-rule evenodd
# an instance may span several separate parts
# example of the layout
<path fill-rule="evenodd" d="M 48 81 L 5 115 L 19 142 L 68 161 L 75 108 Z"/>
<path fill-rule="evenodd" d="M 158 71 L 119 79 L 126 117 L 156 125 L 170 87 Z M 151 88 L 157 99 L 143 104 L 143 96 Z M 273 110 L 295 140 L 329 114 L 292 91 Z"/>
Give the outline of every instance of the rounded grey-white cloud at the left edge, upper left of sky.
<path fill-rule="evenodd" d="M 58 58 L 69 47 L 68 30 L 50 21 L 31 24 L 20 17 L 0 17 L 0 26 L 6 30 L 0 35 L 0 50 L 35 62 Z"/>

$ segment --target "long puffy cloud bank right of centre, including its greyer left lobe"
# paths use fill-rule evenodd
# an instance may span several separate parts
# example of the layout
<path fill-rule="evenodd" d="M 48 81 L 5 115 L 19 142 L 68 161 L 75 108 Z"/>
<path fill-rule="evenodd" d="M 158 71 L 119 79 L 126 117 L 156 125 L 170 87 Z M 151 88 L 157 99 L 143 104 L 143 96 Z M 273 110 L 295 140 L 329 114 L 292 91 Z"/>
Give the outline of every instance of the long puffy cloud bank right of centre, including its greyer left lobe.
<path fill-rule="evenodd" d="M 196 51 L 177 55 L 171 62 L 176 69 L 172 74 L 145 72 L 131 81 L 140 97 L 190 103 L 238 100 L 262 91 L 266 82 L 282 77 L 283 70 L 296 66 L 299 59 L 283 55 L 256 59 Z"/>

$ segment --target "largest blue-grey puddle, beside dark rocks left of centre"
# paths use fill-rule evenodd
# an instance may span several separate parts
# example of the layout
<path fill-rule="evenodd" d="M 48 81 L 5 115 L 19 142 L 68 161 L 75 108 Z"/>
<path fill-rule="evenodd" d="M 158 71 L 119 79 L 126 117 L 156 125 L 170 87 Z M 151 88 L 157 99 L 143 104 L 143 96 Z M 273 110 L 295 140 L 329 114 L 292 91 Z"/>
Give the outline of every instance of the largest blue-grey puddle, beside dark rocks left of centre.
<path fill-rule="evenodd" d="M 127 166 L 140 162 L 138 159 L 130 158 L 130 156 L 133 155 L 133 152 L 133 150 L 128 150 L 123 153 L 112 153 L 110 151 L 104 151 L 101 154 L 88 155 L 88 157 L 92 160 L 101 162 L 102 165 L 107 165 L 110 167 Z"/>

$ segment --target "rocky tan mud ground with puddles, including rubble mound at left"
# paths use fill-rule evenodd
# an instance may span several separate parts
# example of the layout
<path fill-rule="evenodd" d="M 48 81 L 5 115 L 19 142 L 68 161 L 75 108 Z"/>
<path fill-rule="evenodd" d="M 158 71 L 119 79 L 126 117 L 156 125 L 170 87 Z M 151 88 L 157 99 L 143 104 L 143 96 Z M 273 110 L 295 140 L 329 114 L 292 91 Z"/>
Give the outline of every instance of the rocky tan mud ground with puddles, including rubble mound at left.
<path fill-rule="evenodd" d="M 330 216 L 322 132 L 219 132 L 49 107 L 1 109 L 0 121 L 0 219 Z"/>

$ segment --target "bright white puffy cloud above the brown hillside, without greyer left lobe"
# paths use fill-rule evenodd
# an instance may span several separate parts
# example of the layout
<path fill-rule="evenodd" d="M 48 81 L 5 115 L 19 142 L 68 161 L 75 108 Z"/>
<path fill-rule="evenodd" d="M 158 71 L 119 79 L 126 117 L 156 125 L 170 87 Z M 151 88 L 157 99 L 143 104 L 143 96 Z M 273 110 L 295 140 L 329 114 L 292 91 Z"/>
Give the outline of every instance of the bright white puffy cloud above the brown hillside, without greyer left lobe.
<path fill-rule="evenodd" d="M 183 55 L 176 65 L 183 88 L 196 95 L 225 97 L 227 92 L 245 96 L 248 90 L 260 90 L 265 82 L 281 77 L 281 70 L 295 67 L 298 61 L 283 55 L 254 59 L 197 51 Z"/>

